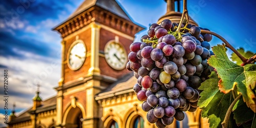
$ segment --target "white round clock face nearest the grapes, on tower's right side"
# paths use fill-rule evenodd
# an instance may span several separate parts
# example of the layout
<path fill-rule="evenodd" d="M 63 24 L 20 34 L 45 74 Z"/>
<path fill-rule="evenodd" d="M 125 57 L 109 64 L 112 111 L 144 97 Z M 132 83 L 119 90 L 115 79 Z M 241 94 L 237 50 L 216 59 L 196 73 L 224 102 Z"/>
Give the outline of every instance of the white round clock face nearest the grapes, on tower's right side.
<path fill-rule="evenodd" d="M 104 53 L 106 62 L 108 62 L 113 69 L 122 70 L 125 68 L 127 53 L 119 43 L 109 42 L 105 46 Z"/>

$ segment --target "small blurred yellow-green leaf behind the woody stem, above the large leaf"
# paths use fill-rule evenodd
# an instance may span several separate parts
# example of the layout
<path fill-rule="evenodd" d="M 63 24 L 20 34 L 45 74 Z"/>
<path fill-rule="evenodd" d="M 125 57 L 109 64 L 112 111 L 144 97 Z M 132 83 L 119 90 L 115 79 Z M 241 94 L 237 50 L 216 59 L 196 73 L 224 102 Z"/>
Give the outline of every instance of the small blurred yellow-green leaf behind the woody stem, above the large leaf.
<path fill-rule="evenodd" d="M 247 59 L 253 55 L 251 51 L 245 52 L 243 48 L 239 48 L 237 50 L 241 55 L 243 55 Z M 241 65 L 243 63 L 243 61 L 235 53 L 232 53 L 230 58 L 232 59 L 232 61 L 236 61 L 238 65 Z"/>

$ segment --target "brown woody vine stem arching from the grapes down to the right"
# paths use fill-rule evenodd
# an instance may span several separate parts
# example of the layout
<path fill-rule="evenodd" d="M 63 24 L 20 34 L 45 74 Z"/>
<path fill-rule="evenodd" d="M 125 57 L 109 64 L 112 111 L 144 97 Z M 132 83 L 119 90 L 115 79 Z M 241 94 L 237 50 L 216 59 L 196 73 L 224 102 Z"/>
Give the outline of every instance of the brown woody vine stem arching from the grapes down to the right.
<path fill-rule="evenodd" d="M 214 35 L 218 38 L 220 38 L 226 45 L 227 48 L 229 48 L 230 50 L 232 50 L 235 54 L 238 55 L 238 57 L 243 61 L 243 62 L 246 62 L 248 59 L 246 59 L 243 55 L 241 55 L 236 49 L 234 49 L 233 46 L 231 46 L 229 44 L 229 42 L 224 39 L 222 36 L 220 36 L 219 34 L 215 33 L 215 32 L 211 32 L 211 31 L 207 31 L 207 30 L 201 30 L 202 33 L 207 33 L 207 34 L 211 34 L 211 35 Z"/>

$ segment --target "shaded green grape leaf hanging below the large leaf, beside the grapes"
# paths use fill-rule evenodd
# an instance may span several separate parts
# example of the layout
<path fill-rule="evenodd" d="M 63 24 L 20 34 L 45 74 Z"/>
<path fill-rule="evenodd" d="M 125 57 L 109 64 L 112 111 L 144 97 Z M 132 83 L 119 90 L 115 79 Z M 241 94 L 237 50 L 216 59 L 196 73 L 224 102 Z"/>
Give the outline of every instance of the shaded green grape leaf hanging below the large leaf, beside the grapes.
<path fill-rule="evenodd" d="M 222 127 L 221 122 L 233 100 L 231 93 L 224 94 L 219 91 L 219 80 L 216 72 L 211 72 L 209 79 L 202 82 L 199 87 L 199 90 L 203 91 L 200 94 L 198 105 L 202 109 L 202 117 L 209 119 L 210 127 Z"/>

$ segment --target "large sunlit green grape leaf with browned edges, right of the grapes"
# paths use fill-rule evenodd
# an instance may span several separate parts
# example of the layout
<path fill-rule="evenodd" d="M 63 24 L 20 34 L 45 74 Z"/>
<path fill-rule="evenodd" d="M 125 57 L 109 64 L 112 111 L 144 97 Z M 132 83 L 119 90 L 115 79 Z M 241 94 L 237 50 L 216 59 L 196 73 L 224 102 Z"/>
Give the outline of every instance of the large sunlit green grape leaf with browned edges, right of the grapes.
<path fill-rule="evenodd" d="M 208 59 L 208 63 L 217 70 L 221 78 L 219 90 L 226 94 L 237 87 L 237 93 L 242 94 L 247 106 L 255 113 L 256 97 L 253 90 L 256 84 L 256 65 L 239 66 L 233 63 L 228 59 L 224 45 L 214 46 L 212 51 L 215 55 Z"/>

